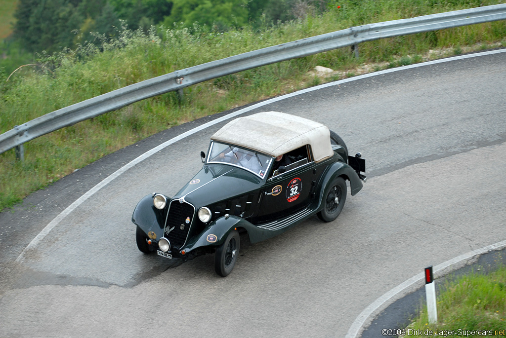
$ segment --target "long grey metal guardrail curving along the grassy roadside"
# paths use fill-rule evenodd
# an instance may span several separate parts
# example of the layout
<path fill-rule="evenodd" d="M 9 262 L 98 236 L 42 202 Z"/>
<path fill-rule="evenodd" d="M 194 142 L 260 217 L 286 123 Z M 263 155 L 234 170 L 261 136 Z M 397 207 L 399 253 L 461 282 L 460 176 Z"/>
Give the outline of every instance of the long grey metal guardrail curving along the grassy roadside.
<path fill-rule="evenodd" d="M 506 19 L 506 4 L 352 27 L 247 52 L 135 83 L 59 109 L 0 135 L 0 154 L 36 137 L 135 102 L 221 76 L 381 38 Z M 20 148 L 18 152 L 21 153 Z M 20 156 L 20 157 L 21 157 Z"/>

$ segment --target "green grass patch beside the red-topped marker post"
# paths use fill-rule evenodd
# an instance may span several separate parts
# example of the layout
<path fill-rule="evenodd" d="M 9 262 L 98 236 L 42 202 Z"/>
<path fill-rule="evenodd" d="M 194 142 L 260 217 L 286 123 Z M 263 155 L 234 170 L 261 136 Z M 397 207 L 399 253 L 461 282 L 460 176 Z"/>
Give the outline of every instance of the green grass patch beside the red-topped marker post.
<path fill-rule="evenodd" d="M 463 337 L 458 330 L 478 331 L 491 330 L 490 335 L 504 335 L 506 332 L 506 267 L 499 268 L 484 275 L 473 271 L 468 275 L 461 276 L 455 281 L 446 282 L 444 291 L 437 297 L 437 324 L 428 323 L 427 308 L 408 326 L 409 329 L 432 330 L 435 336 L 439 331 L 455 331 L 452 337 Z M 497 332 L 496 332 L 497 331 Z M 418 331 L 420 332 L 420 331 Z M 502 332 L 499 333 L 499 332 Z M 463 333 L 463 332 L 462 332 Z M 405 337 L 417 336 L 408 334 Z M 418 335 L 419 336 L 419 335 Z M 487 334 L 474 334 L 469 336 L 487 336 Z"/>

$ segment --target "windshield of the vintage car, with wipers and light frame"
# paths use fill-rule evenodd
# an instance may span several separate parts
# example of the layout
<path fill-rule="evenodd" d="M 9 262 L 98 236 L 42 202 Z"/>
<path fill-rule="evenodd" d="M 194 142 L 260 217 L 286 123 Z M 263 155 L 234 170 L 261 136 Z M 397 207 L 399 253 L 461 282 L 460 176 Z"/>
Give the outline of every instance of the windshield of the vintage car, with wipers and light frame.
<path fill-rule="evenodd" d="M 212 142 L 207 163 L 226 163 L 265 177 L 272 157 L 229 144 Z"/>

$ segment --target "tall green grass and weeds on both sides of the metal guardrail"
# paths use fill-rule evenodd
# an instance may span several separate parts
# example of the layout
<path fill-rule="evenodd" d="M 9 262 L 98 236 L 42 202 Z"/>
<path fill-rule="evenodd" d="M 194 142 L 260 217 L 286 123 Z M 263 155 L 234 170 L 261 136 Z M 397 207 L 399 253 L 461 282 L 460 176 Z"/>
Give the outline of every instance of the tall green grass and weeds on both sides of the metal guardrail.
<path fill-rule="evenodd" d="M 502 1 L 330 1 L 321 6 L 324 10 L 315 6 L 300 16 L 292 13 L 284 22 L 260 15 L 255 24 L 226 29 L 183 21 L 133 30 L 123 22 L 113 34 L 92 33 L 91 40 L 72 48 L 33 54 L 30 65 L 15 72 L 0 68 L 0 133 L 126 85 L 262 47 L 351 26 L 498 3 Z M 364 72 L 492 46 L 506 46 L 506 22 L 366 42 L 359 45 L 359 58 L 344 48 L 248 70 L 185 88 L 182 101 L 174 92 L 159 95 L 29 141 L 24 162 L 16 160 L 14 150 L 1 154 L 0 210 L 171 126 Z M 317 73 L 315 66 L 334 71 Z"/>

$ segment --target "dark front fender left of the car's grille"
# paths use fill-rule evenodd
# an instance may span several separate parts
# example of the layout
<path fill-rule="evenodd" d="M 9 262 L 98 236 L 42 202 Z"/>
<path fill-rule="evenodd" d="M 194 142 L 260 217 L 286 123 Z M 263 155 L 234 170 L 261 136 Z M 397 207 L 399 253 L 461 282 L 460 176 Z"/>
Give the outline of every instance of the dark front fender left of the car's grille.
<path fill-rule="evenodd" d="M 167 198 L 167 201 L 170 199 Z M 165 218 L 167 216 L 167 208 L 158 210 L 153 205 L 153 197 L 146 195 L 143 197 L 134 209 L 132 214 L 132 222 L 138 225 L 146 234 L 149 231 L 153 231 L 156 238 L 160 239 L 163 237 L 163 226 L 165 224 Z"/>

